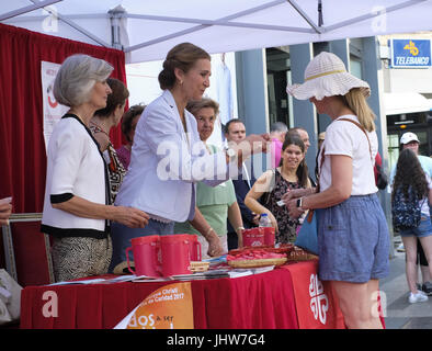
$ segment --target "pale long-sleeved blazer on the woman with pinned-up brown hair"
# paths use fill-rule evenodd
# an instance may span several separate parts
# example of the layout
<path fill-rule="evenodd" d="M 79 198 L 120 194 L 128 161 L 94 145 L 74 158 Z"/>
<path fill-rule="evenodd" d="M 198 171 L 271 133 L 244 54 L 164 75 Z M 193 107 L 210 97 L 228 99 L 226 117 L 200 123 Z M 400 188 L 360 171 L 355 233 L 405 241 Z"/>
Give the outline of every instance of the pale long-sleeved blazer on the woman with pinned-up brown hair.
<path fill-rule="evenodd" d="M 195 182 L 216 186 L 237 176 L 224 151 L 205 151 L 195 117 L 187 111 L 184 115 L 187 134 L 169 90 L 145 109 L 116 205 L 137 207 L 162 222 L 184 222 L 195 214 Z"/>

